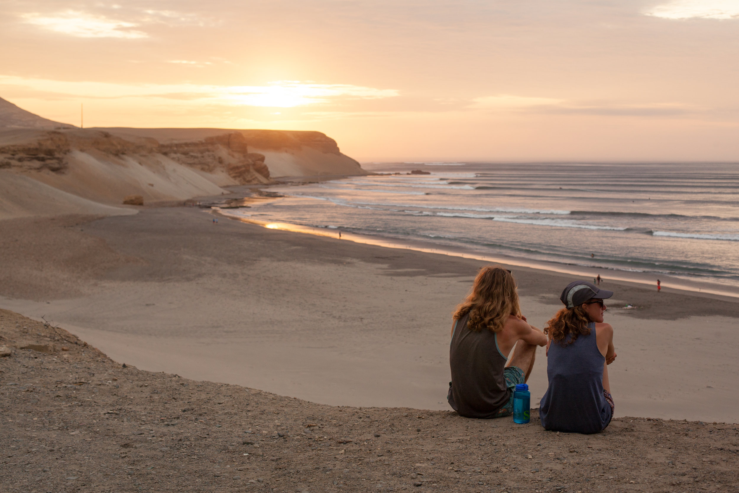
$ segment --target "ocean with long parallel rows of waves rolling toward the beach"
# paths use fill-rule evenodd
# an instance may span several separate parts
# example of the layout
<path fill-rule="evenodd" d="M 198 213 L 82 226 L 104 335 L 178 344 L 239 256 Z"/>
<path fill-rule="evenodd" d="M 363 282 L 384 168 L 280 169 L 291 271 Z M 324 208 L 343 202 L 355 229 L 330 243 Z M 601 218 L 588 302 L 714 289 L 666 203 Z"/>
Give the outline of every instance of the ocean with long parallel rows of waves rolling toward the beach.
<path fill-rule="evenodd" d="M 273 187 L 285 197 L 228 212 L 593 277 L 739 288 L 737 163 L 362 166 L 401 174 Z"/>

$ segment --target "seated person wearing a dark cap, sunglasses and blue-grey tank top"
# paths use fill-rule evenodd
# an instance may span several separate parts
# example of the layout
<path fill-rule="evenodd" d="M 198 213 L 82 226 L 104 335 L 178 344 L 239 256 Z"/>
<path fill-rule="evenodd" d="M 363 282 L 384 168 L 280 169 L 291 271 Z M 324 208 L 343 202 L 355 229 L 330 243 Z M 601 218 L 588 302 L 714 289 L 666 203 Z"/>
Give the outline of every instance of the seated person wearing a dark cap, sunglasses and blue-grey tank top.
<path fill-rule="evenodd" d="M 562 291 L 565 304 L 547 322 L 549 387 L 539 407 L 545 429 L 597 433 L 613 418 L 607 365 L 616 359 L 613 327 L 603 323 L 604 299 L 613 291 L 575 281 Z"/>

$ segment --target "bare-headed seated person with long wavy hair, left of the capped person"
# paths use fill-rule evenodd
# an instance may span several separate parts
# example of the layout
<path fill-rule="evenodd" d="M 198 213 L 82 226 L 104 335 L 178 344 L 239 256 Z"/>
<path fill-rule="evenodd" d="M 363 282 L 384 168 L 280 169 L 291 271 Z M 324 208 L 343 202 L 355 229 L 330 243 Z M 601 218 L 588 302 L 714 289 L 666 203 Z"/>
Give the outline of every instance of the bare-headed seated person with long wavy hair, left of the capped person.
<path fill-rule="evenodd" d="M 544 333 L 521 315 L 511 271 L 483 267 L 453 316 L 449 405 L 467 418 L 513 414 L 513 389 L 528 380 L 537 346 L 546 343 Z"/>

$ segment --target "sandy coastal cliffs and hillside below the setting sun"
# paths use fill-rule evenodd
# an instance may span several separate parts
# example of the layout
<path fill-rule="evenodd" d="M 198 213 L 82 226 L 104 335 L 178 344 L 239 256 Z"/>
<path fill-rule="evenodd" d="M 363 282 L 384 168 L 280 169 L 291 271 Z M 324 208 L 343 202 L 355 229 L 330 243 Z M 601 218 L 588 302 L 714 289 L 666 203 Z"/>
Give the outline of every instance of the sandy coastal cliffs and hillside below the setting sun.
<path fill-rule="evenodd" d="M 360 174 L 367 171 L 321 132 L 79 129 L 0 99 L 0 220 L 128 214 L 120 205 L 131 196 L 152 205 L 280 177 Z"/>

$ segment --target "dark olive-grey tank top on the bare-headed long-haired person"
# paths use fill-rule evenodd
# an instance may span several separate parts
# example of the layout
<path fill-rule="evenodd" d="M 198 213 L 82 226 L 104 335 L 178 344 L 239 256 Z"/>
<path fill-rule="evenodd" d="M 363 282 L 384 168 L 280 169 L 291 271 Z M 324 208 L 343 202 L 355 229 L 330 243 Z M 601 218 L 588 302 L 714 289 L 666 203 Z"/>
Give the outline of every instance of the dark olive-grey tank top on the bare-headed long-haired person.
<path fill-rule="evenodd" d="M 469 330 L 467 319 L 469 313 L 454 325 L 449 344 L 452 381 L 446 398 L 452 409 L 467 418 L 494 418 L 510 398 L 503 378 L 507 358 L 500 353 L 492 330 Z"/>

